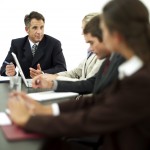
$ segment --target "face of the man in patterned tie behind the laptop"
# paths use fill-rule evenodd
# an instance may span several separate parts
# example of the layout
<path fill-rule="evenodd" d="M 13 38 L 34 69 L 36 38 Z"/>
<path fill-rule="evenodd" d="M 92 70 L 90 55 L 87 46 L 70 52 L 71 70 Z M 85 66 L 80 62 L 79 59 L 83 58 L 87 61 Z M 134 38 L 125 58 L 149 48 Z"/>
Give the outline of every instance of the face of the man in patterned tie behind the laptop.
<path fill-rule="evenodd" d="M 32 19 L 30 26 L 26 27 L 26 32 L 29 35 L 29 39 L 33 43 L 40 42 L 44 36 L 44 22 L 43 20 Z"/>

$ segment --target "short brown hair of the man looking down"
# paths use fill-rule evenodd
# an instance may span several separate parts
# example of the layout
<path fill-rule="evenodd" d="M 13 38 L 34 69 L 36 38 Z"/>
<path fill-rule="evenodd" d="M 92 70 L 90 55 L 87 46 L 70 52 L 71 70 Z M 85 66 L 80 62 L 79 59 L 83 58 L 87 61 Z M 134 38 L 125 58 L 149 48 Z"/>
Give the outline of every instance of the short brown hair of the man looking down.
<path fill-rule="evenodd" d="M 92 36 L 97 37 L 102 42 L 102 30 L 100 29 L 100 15 L 93 17 L 84 27 L 83 34 L 90 33 Z"/>

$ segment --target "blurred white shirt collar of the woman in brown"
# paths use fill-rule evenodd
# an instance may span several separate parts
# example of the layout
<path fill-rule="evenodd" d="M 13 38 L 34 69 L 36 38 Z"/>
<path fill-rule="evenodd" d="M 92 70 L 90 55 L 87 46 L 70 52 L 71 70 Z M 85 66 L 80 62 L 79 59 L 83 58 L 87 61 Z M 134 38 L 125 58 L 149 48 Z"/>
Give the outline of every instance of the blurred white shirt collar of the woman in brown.
<path fill-rule="evenodd" d="M 129 77 L 143 67 L 143 61 L 138 56 L 133 56 L 125 63 L 119 66 L 119 79 Z"/>

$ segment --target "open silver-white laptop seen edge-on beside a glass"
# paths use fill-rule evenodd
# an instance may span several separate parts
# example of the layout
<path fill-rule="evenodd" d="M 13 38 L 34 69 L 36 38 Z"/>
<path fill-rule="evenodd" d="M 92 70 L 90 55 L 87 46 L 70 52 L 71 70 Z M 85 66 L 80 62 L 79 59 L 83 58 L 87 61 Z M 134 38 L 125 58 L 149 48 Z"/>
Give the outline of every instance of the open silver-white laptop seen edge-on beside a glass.
<path fill-rule="evenodd" d="M 18 71 L 19 71 L 19 73 L 20 73 L 20 75 L 21 75 L 21 77 L 23 79 L 23 82 L 25 83 L 26 87 L 32 87 L 32 79 L 26 79 L 25 78 L 25 75 L 24 75 L 24 73 L 22 71 L 22 68 L 20 66 L 20 63 L 18 61 L 18 58 L 17 58 L 16 54 L 13 53 L 13 52 L 11 54 L 12 54 L 12 56 L 14 58 L 14 61 L 15 61 L 16 65 L 17 65 L 17 67 L 18 67 Z"/>

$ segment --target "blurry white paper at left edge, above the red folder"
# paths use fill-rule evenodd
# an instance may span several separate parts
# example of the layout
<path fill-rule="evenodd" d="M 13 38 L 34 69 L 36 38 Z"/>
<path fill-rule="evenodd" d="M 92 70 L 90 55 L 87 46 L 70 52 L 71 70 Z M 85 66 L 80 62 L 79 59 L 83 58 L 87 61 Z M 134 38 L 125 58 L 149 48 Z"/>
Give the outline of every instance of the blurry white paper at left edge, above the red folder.
<path fill-rule="evenodd" d="M 0 125 L 10 125 L 11 120 L 4 112 L 0 112 Z"/>

